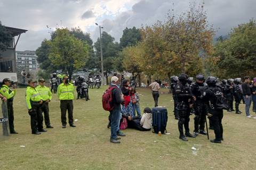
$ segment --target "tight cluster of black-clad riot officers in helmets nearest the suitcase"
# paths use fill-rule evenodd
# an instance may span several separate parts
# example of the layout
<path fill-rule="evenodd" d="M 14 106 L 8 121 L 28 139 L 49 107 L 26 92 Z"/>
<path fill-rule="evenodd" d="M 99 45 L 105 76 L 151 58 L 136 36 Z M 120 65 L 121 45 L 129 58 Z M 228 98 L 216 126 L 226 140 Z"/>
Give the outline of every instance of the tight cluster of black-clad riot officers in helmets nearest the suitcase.
<path fill-rule="evenodd" d="M 192 83 L 187 74 L 180 74 L 179 77 L 171 77 L 171 89 L 174 99 L 174 116 L 178 121 L 179 138 L 188 141 L 187 137 L 195 138 L 198 134 L 207 135 L 205 131 L 206 115 L 210 120 L 210 129 L 214 129 L 214 143 L 221 143 L 223 140 L 222 103 L 223 90 L 217 84 L 217 78 L 209 77 L 205 83 L 203 74 L 196 76 L 196 82 Z M 189 116 L 194 112 L 194 133 L 189 131 Z M 183 127 L 185 133 L 183 132 Z"/>

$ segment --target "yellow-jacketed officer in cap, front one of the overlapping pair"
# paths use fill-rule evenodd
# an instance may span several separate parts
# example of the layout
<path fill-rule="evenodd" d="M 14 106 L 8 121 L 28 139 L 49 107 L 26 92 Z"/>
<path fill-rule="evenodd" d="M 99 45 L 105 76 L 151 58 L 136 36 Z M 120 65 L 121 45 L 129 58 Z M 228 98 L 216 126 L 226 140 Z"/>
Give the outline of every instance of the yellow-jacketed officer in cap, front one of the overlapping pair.
<path fill-rule="evenodd" d="M 30 115 L 32 134 L 41 134 L 40 132 L 46 132 L 47 130 L 43 129 L 43 115 L 40 111 L 40 107 L 44 100 L 36 90 L 36 83 L 36 80 L 28 80 L 26 104 L 28 107 L 28 114 Z"/>

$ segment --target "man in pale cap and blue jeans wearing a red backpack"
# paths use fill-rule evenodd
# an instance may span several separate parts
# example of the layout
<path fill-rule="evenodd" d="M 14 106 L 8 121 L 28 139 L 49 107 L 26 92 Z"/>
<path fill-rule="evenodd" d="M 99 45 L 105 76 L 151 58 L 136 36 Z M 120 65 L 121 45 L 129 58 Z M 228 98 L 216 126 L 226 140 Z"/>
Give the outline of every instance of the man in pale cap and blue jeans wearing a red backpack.
<path fill-rule="evenodd" d="M 105 110 L 109 110 L 110 112 L 110 117 L 111 117 L 111 137 L 110 137 L 110 142 L 112 143 L 120 143 L 119 139 L 121 136 L 124 137 L 125 134 L 122 133 L 119 130 L 119 123 L 121 119 L 121 103 L 123 103 L 124 99 L 122 97 L 121 90 L 118 86 L 119 84 L 119 79 L 116 76 L 113 76 L 111 78 L 111 85 L 109 89 L 103 94 L 102 96 L 102 105 Z M 104 98 L 106 97 L 105 95 L 111 91 L 111 94 L 108 98 L 109 101 L 103 101 Z M 106 99 L 105 99 L 106 100 Z M 109 103 L 108 103 L 109 102 Z M 109 106 L 108 106 L 109 105 Z"/>

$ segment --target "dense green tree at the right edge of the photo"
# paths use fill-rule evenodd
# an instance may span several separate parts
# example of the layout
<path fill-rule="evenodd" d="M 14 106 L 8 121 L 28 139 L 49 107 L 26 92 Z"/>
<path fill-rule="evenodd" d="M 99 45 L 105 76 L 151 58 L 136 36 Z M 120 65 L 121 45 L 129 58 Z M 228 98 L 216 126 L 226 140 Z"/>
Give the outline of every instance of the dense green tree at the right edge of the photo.
<path fill-rule="evenodd" d="M 218 58 L 212 72 L 220 78 L 236 78 L 256 74 L 256 22 L 240 24 L 231 30 L 229 38 L 215 44 L 214 57 Z"/>

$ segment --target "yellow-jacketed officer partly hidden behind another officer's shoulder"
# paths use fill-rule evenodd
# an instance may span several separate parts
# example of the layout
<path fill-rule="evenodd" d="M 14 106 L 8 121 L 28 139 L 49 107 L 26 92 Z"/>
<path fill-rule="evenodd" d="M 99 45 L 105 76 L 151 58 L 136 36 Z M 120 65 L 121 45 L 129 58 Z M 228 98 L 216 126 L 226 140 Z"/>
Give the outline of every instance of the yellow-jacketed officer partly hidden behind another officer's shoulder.
<path fill-rule="evenodd" d="M 39 94 L 44 100 L 42 106 L 40 107 L 40 111 L 41 113 L 44 112 L 44 123 L 46 125 L 46 128 L 53 128 L 53 126 L 51 126 L 49 117 L 49 102 L 52 100 L 52 92 L 49 88 L 44 86 L 44 82 L 44 79 L 39 79 L 39 86 L 36 87 L 36 90 L 39 92 Z"/>

